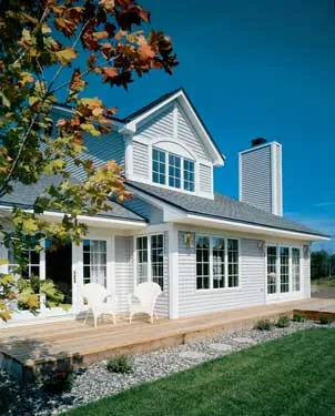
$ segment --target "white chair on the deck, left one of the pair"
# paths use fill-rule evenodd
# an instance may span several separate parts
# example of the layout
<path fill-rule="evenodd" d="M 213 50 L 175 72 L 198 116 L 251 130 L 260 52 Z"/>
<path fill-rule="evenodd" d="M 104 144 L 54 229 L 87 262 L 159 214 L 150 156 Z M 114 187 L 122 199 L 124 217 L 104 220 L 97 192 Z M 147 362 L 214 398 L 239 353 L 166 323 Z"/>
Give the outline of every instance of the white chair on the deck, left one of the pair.
<path fill-rule="evenodd" d="M 85 323 L 90 312 L 92 312 L 94 318 L 94 328 L 97 328 L 98 318 L 101 315 L 112 315 L 113 323 L 116 322 L 116 296 L 109 293 L 105 287 L 98 283 L 88 283 L 82 288 L 82 297 L 88 302 L 88 313 Z"/>

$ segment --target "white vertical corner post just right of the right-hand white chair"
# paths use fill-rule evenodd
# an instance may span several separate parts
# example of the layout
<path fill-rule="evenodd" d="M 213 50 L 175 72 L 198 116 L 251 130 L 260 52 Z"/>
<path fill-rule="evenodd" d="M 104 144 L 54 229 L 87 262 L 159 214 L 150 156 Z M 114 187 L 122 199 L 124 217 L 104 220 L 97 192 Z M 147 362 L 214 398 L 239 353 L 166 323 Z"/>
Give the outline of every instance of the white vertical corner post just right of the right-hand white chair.
<path fill-rule="evenodd" d="M 169 317 L 179 317 L 177 230 L 169 224 Z"/>

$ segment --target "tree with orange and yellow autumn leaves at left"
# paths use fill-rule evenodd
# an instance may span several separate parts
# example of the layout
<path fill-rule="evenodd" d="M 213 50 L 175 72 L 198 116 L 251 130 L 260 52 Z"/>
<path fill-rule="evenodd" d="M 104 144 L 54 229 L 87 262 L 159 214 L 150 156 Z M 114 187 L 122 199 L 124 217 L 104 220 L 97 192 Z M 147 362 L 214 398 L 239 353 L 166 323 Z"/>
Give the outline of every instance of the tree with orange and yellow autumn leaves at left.
<path fill-rule="evenodd" d="M 12 227 L 2 229 L 19 274 L 27 267 L 27 250 L 40 251 L 40 242 L 48 236 L 79 242 L 87 231 L 79 215 L 110 209 L 111 193 L 118 201 L 130 197 L 120 176 L 122 166 L 110 161 L 97 169 L 82 156 L 84 134 L 108 133 L 116 112 L 84 92 L 91 77 L 126 89 L 134 77 L 151 70 L 172 73 L 177 62 L 170 38 L 144 30 L 149 20 L 150 13 L 133 0 L 1 2 L 0 196 L 11 192 L 14 182 L 30 185 L 42 175 L 61 176 L 37 197 L 33 212 L 16 207 Z M 63 90 L 72 113 L 54 121 L 52 109 Z M 70 164 L 84 172 L 81 183 L 71 179 Z M 47 222 L 45 210 L 62 212 L 62 222 Z M 10 318 L 12 300 L 38 308 L 31 285 L 19 286 L 13 275 L 0 275 L 2 319 Z M 47 286 L 52 292 L 52 285 Z"/>

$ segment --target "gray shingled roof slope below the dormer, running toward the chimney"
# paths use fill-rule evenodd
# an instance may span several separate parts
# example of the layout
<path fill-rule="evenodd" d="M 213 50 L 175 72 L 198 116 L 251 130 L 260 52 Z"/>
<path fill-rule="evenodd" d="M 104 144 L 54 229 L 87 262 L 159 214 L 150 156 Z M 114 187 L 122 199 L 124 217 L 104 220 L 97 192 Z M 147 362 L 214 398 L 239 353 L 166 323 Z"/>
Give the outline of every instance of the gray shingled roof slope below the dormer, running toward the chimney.
<path fill-rule="evenodd" d="M 128 184 L 133 190 L 142 191 L 145 194 L 185 211 L 189 214 L 197 214 L 252 225 L 263 225 L 272 229 L 313 234 L 317 236 L 327 236 L 321 232 L 311 230 L 303 224 L 282 216 L 273 215 L 266 211 L 256 209 L 220 193 L 215 193 L 214 200 L 210 200 L 134 181 L 128 181 Z"/>

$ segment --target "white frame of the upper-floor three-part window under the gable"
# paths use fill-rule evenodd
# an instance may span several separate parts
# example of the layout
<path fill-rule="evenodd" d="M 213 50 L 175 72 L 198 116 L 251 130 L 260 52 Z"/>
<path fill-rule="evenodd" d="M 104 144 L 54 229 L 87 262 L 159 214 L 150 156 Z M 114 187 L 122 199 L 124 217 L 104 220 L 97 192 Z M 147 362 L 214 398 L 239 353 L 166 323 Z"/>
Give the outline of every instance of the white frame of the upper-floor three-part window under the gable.
<path fill-rule="evenodd" d="M 162 183 L 158 183 L 158 182 L 153 182 L 153 169 L 152 169 L 152 165 L 153 165 L 153 159 L 152 159 L 152 154 L 153 154 L 153 151 L 156 150 L 159 152 L 163 152 L 165 154 L 165 183 L 162 184 Z M 169 185 L 169 171 L 170 171 L 170 163 L 169 163 L 169 156 L 173 155 L 173 156 L 176 156 L 180 159 L 181 161 L 181 187 L 175 187 L 175 186 L 170 186 Z M 193 162 L 194 163 L 194 191 L 189 191 L 189 190 L 185 190 L 184 189 L 184 160 L 189 161 L 189 162 Z M 150 158 L 149 158 L 149 162 L 150 162 L 150 182 L 155 185 L 155 186 L 162 186 L 162 187 L 168 187 L 169 190 L 173 190 L 173 191 L 180 191 L 180 192 L 186 192 L 191 195 L 194 195 L 197 193 L 197 189 L 199 189 L 199 181 L 197 181 L 197 177 L 199 177 L 199 174 L 197 174 L 197 161 L 194 160 L 194 159 L 191 159 L 191 158 L 186 158 L 186 156 L 182 156 L 180 154 L 176 154 L 176 153 L 173 153 L 173 152 L 169 152 L 166 150 L 163 150 L 163 149 L 160 149 L 155 145 L 152 145 L 150 146 Z"/>

